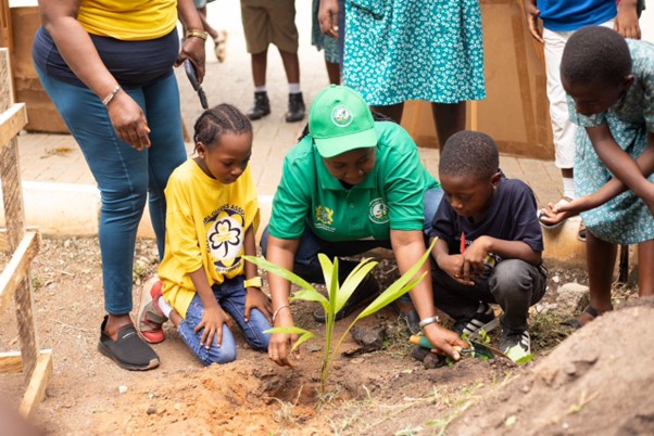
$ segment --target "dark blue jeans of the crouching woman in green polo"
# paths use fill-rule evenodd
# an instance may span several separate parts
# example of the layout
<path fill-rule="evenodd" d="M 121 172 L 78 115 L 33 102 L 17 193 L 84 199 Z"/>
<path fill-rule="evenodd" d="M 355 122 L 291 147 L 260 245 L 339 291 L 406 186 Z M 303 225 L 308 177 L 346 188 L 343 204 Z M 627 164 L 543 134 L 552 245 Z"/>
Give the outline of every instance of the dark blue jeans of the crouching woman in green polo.
<path fill-rule="evenodd" d="M 443 191 L 440 188 L 425 191 L 425 222 L 423 226 L 425 238 L 428 236 L 429 230 L 431 229 L 431 220 L 436 215 L 436 209 L 442 197 Z M 268 228 L 266 227 L 261 236 L 261 249 L 264 257 L 266 256 L 267 246 Z M 334 258 L 336 256 L 357 255 L 378 247 L 391 248 L 390 239 L 330 242 L 319 239 L 309 229 L 309 227 L 305 227 L 304 233 L 302 234 L 302 238 L 300 238 L 298 252 L 295 252 L 293 272 L 309 282 L 325 283 L 323 269 L 320 268 L 320 262 L 318 260 L 318 253 L 324 253 L 329 258 Z M 339 259 L 339 277 L 341 279 L 348 277 L 350 271 L 352 271 L 356 265 L 359 265 L 357 261 Z M 406 295 L 403 300 L 407 298 L 408 295 Z"/>

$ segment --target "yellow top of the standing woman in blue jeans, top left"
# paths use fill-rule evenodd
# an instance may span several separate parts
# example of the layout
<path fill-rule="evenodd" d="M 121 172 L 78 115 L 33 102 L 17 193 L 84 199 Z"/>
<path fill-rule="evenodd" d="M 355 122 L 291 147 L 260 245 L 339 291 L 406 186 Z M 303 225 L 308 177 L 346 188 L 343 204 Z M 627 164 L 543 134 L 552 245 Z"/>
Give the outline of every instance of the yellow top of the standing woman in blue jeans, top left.
<path fill-rule="evenodd" d="M 89 34 L 147 41 L 177 26 L 177 0 L 81 0 L 77 21 Z"/>

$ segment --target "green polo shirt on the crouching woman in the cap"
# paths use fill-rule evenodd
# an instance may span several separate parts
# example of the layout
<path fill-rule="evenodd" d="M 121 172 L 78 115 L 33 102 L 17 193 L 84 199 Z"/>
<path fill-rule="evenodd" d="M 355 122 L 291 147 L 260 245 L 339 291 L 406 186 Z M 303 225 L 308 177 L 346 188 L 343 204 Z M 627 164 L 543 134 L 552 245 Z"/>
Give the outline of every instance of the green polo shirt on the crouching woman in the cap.
<path fill-rule="evenodd" d="M 326 241 L 389 240 L 391 229 L 423 230 L 424 193 L 439 183 L 402 127 L 376 121 L 375 130 L 375 168 L 351 189 L 329 174 L 311 136 L 287 154 L 268 226 L 273 236 L 300 239 L 304 226 Z"/>

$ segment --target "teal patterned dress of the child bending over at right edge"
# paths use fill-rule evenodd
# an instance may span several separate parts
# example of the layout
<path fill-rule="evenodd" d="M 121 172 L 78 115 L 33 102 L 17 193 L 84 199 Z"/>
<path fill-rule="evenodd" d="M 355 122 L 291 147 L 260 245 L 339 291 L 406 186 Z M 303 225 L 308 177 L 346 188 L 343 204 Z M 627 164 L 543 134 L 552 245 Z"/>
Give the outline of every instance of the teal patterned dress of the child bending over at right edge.
<path fill-rule="evenodd" d="M 590 117 L 578 114 L 568 98 L 573 123 L 582 127 L 607 123 L 613 138 L 631 157 L 638 157 L 647 146 L 647 132 L 654 133 L 654 44 L 627 39 L 631 59 L 633 85 L 608 111 Z M 577 129 L 575 151 L 575 189 L 577 195 L 588 195 L 602 188 L 613 175 L 598 157 L 586 132 Z M 647 178 L 654 182 L 654 174 Z M 581 219 L 601 240 L 617 244 L 637 244 L 654 239 L 654 217 L 645 203 L 626 191 L 609 202 L 581 214 Z"/>

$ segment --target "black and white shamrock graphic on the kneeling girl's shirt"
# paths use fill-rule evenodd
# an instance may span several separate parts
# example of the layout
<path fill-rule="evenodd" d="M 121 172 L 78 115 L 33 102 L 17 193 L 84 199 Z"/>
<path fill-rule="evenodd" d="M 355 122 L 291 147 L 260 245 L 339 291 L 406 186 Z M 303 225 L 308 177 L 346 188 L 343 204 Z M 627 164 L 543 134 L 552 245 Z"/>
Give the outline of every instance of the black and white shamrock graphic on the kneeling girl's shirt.
<path fill-rule="evenodd" d="M 228 272 L 238 268 L 246 236 L 243 209 L 234 205 L 223 206 L 209 223 L 206 241 L 216 271 Z"/>

